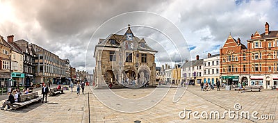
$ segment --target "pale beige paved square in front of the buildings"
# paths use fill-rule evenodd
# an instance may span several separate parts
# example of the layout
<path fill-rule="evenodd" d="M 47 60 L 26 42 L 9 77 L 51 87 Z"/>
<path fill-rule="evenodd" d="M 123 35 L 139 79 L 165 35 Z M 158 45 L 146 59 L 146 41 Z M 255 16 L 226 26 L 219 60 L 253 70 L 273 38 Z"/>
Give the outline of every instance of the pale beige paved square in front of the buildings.
<path fill-rule="evenodd" d="M 253 117 L 250 120 L 241 120 L 238 118 L 229 119 L 226 115 L 224 119 L 216 120 L 196 120 L 193 114 L 185 119 L 179 118 L 179 112 L 184 108 L 192 112 L 202 113 L 206 111 L 218 111 L 220 116 L 227 110 L 234 110 L 236 103 L 242 108 L 240 111 L 257 111 L 260 117 L 264 115 L 275 115 L 277 119 L 277 90 L 262 90 L 262 92 L 236 92 L 234 90 L 209 90 L 200 91 L 199 86 L 189 86 L 186 93 L 173 103 L 173 96 L 177 88 L 141 88 L 141 89 L 114 89 L 112 90 L 117 97 L 108 95 L 111 90 L 93 90 L 86 86 L 85 93 L 89 95 L 90 102 L 90 122 L 278 122 L 277 120 L 256 120 Z M 156 92 L 155 92 L 156 91 Z M 161 93 L 167 92 L 167 95 Z M 95 97 L 94 94 L 102 94 L 102 102 L 109 102 L 104 105 Z M 149 94 L 154 95 L 149 95 Z M 39 91 L 40 94 L 40 91 Z M 143 97 L 150 96 L 145 101 L 140 101 Z M 133 99 L 121 102 L 124 99 Z M 164 98 L 163 98 L 164 97 Z M 161 100 L 162 98 L 162 100 Z M 149 100 L 148 100 L 149 99 Z M 88 95 L 76 95 L 76 92 L 65 91 L 65 94 L 56 95 L 48 98 L 47 104 L 33 104 L 19 110 L 0 110 L 0 122 L 89 122 Z M 137 101 L 138 100 L 138 101 Z M 1 101 L 3 102 L 3 101 Z M 156 104 L 157 103 L 157 104 Z M 147 105 L 152 108 L 142 110 L 136 113 L 124 113 L 123 110 L 141 110 Z M 117 108 L 121 110 L 113 110 Z M 200 115 L 199 115 L 200 117 Z"/>

